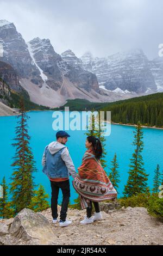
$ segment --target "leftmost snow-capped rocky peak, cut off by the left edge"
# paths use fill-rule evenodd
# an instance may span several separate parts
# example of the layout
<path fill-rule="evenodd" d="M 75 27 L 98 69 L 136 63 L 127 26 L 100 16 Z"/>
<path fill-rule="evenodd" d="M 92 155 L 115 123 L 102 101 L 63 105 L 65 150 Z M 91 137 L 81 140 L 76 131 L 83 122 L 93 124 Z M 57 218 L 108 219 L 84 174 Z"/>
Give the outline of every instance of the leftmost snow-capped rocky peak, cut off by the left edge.
<path fill-rule="evenodd" d="M 39 77 L 39 70 L 32 64 L 28 47 L 14 23 L 0 21 L 1 61 L 10 64 L 23 78 Z"/>

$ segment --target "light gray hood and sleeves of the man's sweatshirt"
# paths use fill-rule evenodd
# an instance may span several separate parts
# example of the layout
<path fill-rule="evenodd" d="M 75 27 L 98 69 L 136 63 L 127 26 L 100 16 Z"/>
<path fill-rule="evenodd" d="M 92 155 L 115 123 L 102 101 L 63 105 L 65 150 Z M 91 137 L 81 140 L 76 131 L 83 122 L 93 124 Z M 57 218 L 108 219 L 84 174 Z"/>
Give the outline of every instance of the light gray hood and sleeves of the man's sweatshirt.
<path fill-rule="evenodd" d="M 70 154 L 68 152 L 68 148 L 65 147 L 64 144 L 61 144 L 60 142 L 57 142 L 57 141 L 51 142 L 48 145 L 48 150 L 52 155 L 57 153 L 62 148 L 65 148 L 65 149 L 61 151 L 61 158 L 65 162 L 68 172 L 72 175 L 73 178 L 75 178 L 77 175 L 77 172 L 72 162 L 72 159 L 70 157 Z M 42 166 L 45 166 L 45 163 L 46 163 L 46 157 L 45 157 L 45 150 L 44 150 L 43 156 L 42 156 Z"/>

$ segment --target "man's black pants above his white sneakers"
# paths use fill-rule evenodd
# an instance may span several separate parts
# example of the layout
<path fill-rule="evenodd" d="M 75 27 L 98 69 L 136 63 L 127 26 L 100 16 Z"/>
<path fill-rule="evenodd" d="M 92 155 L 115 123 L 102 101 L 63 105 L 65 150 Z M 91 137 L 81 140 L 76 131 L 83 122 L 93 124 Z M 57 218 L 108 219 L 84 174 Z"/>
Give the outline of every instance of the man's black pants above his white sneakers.
<path fill-rule="evenodd" d="M 62 205 L 61 205 L 61 211 L 60 211 L 60 220 L 65 221 L 67 216 L 67 209 L 68 209 L 68 203 L 70 200 L 70 181 L 51 181 L 51 188 L 52 188 L 52 198 L 51 198 L 51 209 L 52 209 L 52 217 L 57 218 L 58 217 L 58 211 L 57 211 L 57 205 L 58 205 L 58 194 L 59 194 L 59 188 L 61 188 L 62 191 Z"/>

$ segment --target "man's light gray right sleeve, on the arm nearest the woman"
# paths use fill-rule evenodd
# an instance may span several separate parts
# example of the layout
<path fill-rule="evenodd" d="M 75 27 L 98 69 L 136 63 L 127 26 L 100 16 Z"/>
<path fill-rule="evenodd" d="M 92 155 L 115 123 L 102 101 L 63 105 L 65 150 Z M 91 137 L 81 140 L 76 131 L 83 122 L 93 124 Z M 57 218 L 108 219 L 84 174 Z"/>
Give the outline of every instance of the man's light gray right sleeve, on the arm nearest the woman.
<path fill-rule="evenodd" d="M 77 172 L 67 148 L 62 150 L 61 158 L 65 162 L 68 172 L 72 175 L 73 178 L 75 178 L 77 176 Z"/>

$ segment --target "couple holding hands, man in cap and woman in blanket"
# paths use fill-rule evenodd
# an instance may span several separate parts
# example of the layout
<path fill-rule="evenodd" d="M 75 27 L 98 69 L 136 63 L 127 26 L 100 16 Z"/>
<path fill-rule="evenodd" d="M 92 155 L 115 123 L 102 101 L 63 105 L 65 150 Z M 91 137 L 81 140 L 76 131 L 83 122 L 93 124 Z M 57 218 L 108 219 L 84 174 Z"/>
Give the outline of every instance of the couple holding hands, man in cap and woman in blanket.
<path fill-rule="evenodd" d="M 77 173 L 65 146 L 68 137 L 70 135 L 67 132 L 58 131 L 56 133 L 57 141 L 46 146 L 42 157 L 43 173 L 48 176 L 51 182 L 53 223 L 57 223 L 59 188 L 62 191 L 60 227 L 65 227 L 72 223 L 72 221 L 66 220 L 70 201 L 70 175 L 73 177 L 73 187 L 79 193 L 82 209 L 86 208 L 86 216 L 83 221 L 80 221 L 80 224 L 89 224 L 96 220 L 102 220 L 98 202 L 117 197 L 117 192 L 100 163 L 102 145 L 99 139 L 94 136 L 86 138 L 85 147 L 87 150 Z M 92 203 L 96 211 L 94 216 L 92 216 Z"/>

